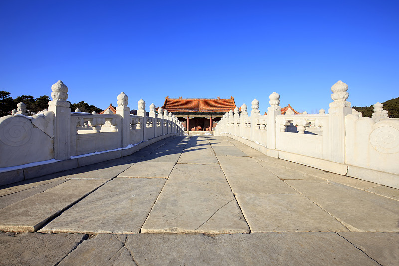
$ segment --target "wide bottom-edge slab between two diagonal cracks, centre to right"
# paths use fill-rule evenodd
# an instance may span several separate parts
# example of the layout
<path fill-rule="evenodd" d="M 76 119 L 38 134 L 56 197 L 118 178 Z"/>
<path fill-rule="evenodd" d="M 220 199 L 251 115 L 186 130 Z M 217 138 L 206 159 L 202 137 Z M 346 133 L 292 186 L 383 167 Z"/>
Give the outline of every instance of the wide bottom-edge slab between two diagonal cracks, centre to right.
<path fill-rule="evenodd" d="M 137 265 L 378 265 L 336 233 L 137 234 Z"/>

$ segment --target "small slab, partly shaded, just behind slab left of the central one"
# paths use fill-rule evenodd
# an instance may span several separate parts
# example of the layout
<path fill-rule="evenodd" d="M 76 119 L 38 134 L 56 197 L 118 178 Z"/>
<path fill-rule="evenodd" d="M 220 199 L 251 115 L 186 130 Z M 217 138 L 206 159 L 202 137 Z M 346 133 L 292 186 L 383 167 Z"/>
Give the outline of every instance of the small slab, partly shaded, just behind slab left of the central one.
<path fill-rule="evenodd" d="M 117 177 L 168 178 L 174 166 L 174 162 L 143 161 L 132 165 Z"/>

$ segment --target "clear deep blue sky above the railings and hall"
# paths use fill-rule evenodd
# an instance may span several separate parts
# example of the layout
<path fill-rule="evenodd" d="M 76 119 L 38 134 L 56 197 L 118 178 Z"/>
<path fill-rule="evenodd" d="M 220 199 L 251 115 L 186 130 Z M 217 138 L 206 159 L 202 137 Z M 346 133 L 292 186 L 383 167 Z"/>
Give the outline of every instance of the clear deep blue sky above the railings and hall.
<path fill-rule="evenodd" d="M 399 96 L 399 1 L 0 1 L 0 90 L 129 107 L 165 97 L 276 91 L 284 107 L 327 110 L 331 86 L 353 106 Z M 250 109 L 250 108 L 249 108 Z"/>

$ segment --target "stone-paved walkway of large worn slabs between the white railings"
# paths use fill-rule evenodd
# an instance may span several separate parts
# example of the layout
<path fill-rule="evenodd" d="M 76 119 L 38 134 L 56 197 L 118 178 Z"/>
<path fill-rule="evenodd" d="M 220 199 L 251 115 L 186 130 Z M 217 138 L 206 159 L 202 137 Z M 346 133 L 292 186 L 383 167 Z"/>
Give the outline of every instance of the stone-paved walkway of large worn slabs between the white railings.
<path fill-rule="evenodd" d="M 399 265 L 399 190 L 228 137 L 0 187 L 0 265 Z"/>

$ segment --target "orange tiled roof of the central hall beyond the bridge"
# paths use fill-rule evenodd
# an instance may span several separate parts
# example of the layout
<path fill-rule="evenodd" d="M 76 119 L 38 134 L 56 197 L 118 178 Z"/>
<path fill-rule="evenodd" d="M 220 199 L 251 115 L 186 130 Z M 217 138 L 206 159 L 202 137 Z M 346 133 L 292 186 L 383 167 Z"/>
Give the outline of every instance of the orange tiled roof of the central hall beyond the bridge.
<path fill-rule="evenodd" d="M 234 110 L 236 107 L 234 98 L 230 99 L 170 99 L 168 96 L 165 98 L 162 109 L 168 112 L 208 112 L 208 113 L 225 113 Z"/>

